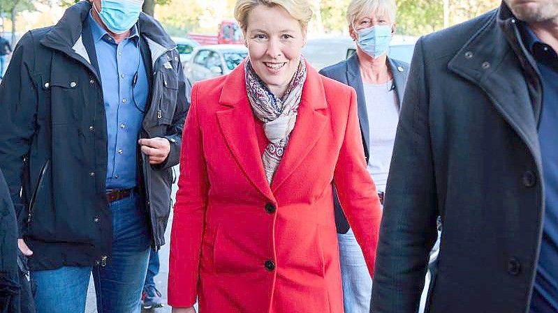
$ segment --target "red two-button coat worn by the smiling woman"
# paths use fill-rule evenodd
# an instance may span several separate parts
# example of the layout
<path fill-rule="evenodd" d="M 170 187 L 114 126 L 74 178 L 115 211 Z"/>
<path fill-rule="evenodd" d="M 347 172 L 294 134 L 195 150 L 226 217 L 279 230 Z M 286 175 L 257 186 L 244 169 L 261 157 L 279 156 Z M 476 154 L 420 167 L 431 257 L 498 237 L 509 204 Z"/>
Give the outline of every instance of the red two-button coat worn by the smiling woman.
<path fill-rule="evenodd" d="M 332 182 L 373 273 L 381 208 L 355 91 L 310 66 L 272 185 L 244 63 L 193 86 L 170 239 L 168 302 L 201 313 L 342 313 Z"/>

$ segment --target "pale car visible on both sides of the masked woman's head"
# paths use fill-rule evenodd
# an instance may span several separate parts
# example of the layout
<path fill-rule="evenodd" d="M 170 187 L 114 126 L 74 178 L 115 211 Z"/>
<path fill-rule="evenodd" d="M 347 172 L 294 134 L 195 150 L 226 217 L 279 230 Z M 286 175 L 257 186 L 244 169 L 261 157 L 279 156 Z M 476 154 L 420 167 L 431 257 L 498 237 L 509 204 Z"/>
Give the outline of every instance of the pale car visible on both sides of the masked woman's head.
<path fill-rule="evenodd" d="M 388 56 L 410 63 L 417 40 L 418 38 L 411 36 L 394 36 L 390 43 Z M 356 44 L 348 36 L 310 38 L 302 49 L 302 55 L 317 70 L 348 59 L 355 52 Z"/>

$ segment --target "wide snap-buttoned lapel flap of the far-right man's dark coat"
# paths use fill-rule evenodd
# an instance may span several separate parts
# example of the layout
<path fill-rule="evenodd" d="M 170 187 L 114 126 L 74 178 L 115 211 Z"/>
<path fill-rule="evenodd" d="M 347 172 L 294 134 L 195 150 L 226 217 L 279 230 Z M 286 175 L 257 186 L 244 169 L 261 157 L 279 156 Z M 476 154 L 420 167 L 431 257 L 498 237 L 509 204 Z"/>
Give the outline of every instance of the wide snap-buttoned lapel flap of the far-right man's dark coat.
<path fill-rule="evenodd" d="M 524 69 L 517 55 L 496 20 L 491 23 L 457 52 L 448 68 L 485 91 L 501 116 L 527 144 L 541 169 L 536 103 L 529 97 Z"/>

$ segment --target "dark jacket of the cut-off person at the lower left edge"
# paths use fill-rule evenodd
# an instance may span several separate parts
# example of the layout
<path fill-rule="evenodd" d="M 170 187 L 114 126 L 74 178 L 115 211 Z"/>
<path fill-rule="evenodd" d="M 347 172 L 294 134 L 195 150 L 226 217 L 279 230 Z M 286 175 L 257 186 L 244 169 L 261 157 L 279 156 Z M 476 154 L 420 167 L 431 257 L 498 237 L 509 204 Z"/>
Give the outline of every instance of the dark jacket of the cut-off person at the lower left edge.
<path fill-rule="evenodd" d="M 25 276 L 27 268 L 18 252 L 15 211 L 0 170 L 0 313 L 35 312 L 29 280 Z"/>

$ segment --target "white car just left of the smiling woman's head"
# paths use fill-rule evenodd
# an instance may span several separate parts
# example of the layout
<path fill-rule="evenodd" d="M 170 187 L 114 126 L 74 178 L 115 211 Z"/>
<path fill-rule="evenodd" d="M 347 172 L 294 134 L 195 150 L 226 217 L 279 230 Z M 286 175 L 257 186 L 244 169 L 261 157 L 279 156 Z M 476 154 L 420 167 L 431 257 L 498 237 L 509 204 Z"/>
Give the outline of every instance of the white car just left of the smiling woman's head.
<path fill-rule="evenodd" d="M 204 45 L 196 47 L 185 72 L 190 82 L 228 74 L 248 56 L 244 45 Z"/>

